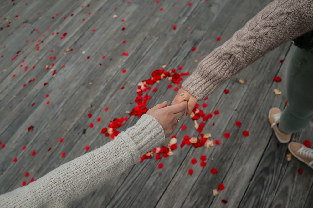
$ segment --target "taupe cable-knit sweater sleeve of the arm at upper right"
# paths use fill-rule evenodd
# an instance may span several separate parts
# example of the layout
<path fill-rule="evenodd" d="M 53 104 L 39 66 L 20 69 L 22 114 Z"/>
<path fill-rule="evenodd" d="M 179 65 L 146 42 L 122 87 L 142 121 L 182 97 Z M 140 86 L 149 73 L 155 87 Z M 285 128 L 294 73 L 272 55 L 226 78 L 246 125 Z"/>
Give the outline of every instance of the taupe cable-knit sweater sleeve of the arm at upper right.
<path fill-rule="evenodd" d="M 275 0 L 206 56 L 182 87 L 201 100 L 267 52 L 312 29 L 312 0 Z"/>

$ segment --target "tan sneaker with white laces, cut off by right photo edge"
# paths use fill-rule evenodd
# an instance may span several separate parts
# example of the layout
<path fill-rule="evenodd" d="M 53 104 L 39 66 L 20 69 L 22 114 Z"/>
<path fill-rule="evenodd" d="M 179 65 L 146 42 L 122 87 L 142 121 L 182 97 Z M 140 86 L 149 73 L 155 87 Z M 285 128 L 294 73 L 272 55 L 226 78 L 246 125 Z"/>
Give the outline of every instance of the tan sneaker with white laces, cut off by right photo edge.
<path fill-rule="evenodd" d="M 313 149 L 310 149 L 303 144 L 291 142 L 288 149 L 295 158 L 304 162 L 313 169 Z"/>

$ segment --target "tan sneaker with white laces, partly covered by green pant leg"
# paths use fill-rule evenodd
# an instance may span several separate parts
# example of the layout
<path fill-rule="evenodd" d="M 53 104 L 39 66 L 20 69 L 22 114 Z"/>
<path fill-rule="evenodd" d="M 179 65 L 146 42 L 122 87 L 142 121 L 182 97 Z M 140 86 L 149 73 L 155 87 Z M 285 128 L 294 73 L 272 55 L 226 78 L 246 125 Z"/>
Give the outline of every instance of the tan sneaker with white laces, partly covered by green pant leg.
<path fill-rule="evenodd" d="M 281 110 L 279 108 L 271 108 L 269 110 L 269 123 L 274 129 L 275 135 L 280 143 L 287 143 L 290 141 L 291 134 L 284 134 L 279 129 L 277 124 L 280 121 Z"/>

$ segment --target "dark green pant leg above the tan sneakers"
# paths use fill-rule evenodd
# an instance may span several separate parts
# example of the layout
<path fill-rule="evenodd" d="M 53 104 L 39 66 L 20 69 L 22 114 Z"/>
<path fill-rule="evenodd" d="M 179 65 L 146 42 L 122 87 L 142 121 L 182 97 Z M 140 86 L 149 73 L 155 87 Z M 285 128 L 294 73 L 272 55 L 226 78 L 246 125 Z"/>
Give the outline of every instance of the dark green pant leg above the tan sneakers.
<path fill-rule="evenodd" d="M 305 128 L 313 116 L 313 48 L 296 48 L 287 69 L 288 104 L 279 123 L 283 133 Z"/>

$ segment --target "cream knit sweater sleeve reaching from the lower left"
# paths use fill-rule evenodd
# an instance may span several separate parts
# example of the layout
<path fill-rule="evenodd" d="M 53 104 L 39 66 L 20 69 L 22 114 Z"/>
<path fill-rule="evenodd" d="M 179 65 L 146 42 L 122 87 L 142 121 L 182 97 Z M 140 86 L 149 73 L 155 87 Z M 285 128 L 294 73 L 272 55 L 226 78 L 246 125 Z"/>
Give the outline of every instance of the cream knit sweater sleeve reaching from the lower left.
<path fill-rule="evenodd" d="M 165 140 L 160 123 L 144 114 L 106 145 L 49 172 L 37 181 L 0 195 L 0 207 L 69 207 L 139 162 Z"/>

